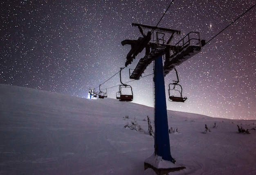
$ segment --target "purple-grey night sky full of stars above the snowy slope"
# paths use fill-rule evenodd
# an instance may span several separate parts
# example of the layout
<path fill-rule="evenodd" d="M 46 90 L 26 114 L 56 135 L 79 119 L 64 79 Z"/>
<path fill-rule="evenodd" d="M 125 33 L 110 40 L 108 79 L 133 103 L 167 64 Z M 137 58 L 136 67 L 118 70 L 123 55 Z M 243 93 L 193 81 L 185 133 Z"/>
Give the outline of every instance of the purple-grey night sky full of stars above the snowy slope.
<path fill-rule="evenodd" d="M 142 35 L 132 22 L 156 26 L 171 0 L 1 0 L 0 83 L 87 98 L 124 67 L 130 45 Z M 158 27 L 180 30 L 172 44 L 190 31 L 206 41 L 227 27 L 255 0 L 174 0 Z M 185 103 L 169 110 L 229 119 L 256 119 L 256 7 L 176 67 Z M 146 29 L 145 29 L 146 31 Z M 122 71 L 133 88 L 134 103 L 153 106 L 152 64 L 140 80 Z M 174 71 L 165 77 L 176 80 Z M 103 83 L 115 98 L 119 74 Z M 113 87 L 113 88 L 111 88 Z M 166 97 L 168 98 L 168 97 Z M 102 99 L 104 100 L 104 99 Z M 121 103 L 121 102 L 120 102 Z M 126 103 L 126 102 L 122 102 Z M 150 114 L 149 114 L 150 115 Z M 153 115 L 153 112 L 152 112 Z"/>

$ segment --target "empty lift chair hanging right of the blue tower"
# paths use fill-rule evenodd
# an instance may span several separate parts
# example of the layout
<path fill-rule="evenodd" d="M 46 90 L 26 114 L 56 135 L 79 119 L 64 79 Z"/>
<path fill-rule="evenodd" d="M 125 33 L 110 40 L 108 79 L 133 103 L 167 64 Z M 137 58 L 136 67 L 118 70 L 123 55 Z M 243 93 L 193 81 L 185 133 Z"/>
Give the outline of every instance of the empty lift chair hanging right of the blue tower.
<path fill-rule="evenodd" d="M 180 81 L 179 81 L 179 77 L 178 77 L 178 73 L 177 73 L 177 70 L 174 68 L 175 72 L 176 72 L 176 75 L 177 75 L 177 81 L 173 81 L 173 83 L 170 83 L 169 84 L 169 89 L 168 89 L 168 92 L 169 92 L 169 101 L 175 101 L 175 102 L 184 102 L 186 101 L 187 97 L 182 97 L 182 86 L 180 84 L 178 84 Z M 172 88 L 171 88 L 172 86 Z M 176 88 L 176 86 L 178 86 L 179 88 Z M 178 91 L 180 96 L 174 96 L 174 95 L 171 95 L 171 92 L 173 91 Z"/>

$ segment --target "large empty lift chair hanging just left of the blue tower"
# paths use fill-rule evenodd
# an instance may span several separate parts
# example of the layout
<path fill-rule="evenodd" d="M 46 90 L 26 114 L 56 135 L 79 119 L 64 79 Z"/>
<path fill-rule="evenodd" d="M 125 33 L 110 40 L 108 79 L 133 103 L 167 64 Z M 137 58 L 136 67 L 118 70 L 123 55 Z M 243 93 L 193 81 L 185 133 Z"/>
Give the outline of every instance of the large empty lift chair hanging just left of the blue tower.
<path fill-rule="evenodd" d="M 121 68 L 121 70 L 124 69 Z M 121 81 L 121 70 L 120 70 L 120 82 L 122 85 L 119 85 L 119 91 L 117 92 L 117 99 L 119 99 L 119 101 L 132 101 L 133 100 L 133 93 L 132 93 L 132 87 L 130 85 L 126 85 L 124 83 L 122 83 Z M 124 94 L 124 88 L 126 90 L 126 93 Z M 128 92 L 130 92 L 129 94 L 127 93 L 127 89 L 128 88 Z M 122 90 L 123 89 L 123 90 Z"/>

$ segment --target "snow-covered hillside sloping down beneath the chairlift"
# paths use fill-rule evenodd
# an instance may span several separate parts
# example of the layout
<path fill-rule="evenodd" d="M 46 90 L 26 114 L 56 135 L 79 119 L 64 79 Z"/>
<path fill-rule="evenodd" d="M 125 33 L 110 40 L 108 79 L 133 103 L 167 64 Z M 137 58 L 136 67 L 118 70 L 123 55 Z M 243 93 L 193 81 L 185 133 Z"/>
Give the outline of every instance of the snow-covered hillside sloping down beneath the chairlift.
<path fill-rule="evenodd" d="M 124 128 L 148 130 L 147 116 L 153 123 L 153 108 L 135 103 L 0 85 L 0 174 L 155 174 L 144 171 L 153 137 Z M 256 120 L 168 111 L 168 124 L 178 128 L 171 155 L 186 167 L 169 174 L 256 174 Z"/>

